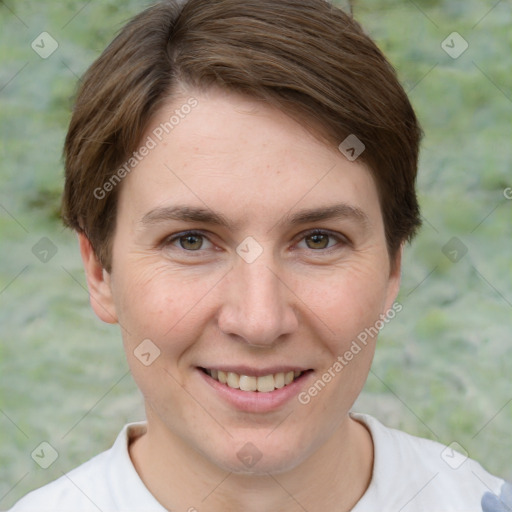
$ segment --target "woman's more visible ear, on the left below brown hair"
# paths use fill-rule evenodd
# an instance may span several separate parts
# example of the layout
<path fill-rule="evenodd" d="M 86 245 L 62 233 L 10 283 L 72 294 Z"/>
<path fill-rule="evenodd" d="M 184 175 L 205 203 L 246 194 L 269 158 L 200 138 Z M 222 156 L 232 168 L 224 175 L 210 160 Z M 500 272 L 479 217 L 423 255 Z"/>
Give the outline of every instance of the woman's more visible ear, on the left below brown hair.
<path fill-rule="evenodd" d="M 100 320 L 108 324 L 115 324 L 117 315 L 112 296 L 111 276 L 98 260 L 89 239 L 83 233 L 79 233 L 78 240 L 91 307 Z"/>

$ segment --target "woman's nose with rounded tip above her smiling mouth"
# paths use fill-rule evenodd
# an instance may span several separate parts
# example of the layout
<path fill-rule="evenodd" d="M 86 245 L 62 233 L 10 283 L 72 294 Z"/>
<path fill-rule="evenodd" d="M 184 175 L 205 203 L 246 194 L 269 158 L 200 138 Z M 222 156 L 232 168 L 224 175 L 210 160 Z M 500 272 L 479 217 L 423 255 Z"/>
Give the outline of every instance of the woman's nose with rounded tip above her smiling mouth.
<path fill-rule="evenodd" d="M 269 347 L 298 327 L 295 297 L 271 261 L 239 259 L 225 278 L 220 330 L 252 346 Z"/>

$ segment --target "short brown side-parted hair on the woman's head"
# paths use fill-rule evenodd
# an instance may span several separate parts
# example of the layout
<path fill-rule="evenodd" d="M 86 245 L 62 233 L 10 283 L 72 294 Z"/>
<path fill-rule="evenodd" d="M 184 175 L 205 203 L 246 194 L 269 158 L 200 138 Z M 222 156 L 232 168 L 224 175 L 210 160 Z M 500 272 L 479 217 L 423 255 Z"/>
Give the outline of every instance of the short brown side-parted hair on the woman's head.
<path fill-rule="evenodd" d="M 180 84 L 261 99 L 328 144 L 357 136 L 391 257 L 420 226 L 421 128 L 393 67 L 352 16 L 324 0 L 169 0 L 133 18 L 87 70 L 66 137 L 63 220 L 108 271 L 121 187 L 101 199 L 94 191 Z"/>

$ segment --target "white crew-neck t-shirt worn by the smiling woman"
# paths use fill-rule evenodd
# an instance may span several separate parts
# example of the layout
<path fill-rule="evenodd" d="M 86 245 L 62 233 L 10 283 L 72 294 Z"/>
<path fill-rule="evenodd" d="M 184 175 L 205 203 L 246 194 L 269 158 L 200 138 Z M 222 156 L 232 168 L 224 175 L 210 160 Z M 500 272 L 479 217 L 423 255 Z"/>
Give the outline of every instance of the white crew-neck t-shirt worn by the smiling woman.
<path fill-rule="evenodd" d="M 502 486 L 502 497 L 510 492 L 508 484 L 453 447 L 387 428 L 367 414 L 351 415 L 368 427 L 374 444 L 372 480 L 352 512 L 510 510 L 496 505 Z M 110 450 L 27 494 L 10 512 L 166 512 L 128 453 L 129 440 L 144 430 L 144 423 L 125 425 Z M 490 505 L 482 508 L 486 493 Z"/>

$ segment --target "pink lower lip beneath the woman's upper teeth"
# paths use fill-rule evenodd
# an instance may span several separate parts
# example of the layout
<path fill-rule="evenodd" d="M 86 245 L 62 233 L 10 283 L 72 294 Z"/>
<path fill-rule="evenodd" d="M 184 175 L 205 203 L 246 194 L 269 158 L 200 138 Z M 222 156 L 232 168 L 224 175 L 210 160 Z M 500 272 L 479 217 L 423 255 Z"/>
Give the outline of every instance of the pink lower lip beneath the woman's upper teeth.
<path fill-rule="evenodd" d="M 241 389 L 230 388 L 227 384 L 220 383 L 202 370 L 197 369 L 197 371 L 204 381 L 231 406 L 240 411 L 258 413 L 275 411 L 291 401 L 299 394 L 300 390 L 304 388 L 306 381 L 313 375 L 313 371 L 309 370 L 287 386 L 262 393 L 259 391 L 242 391 Z"/>

